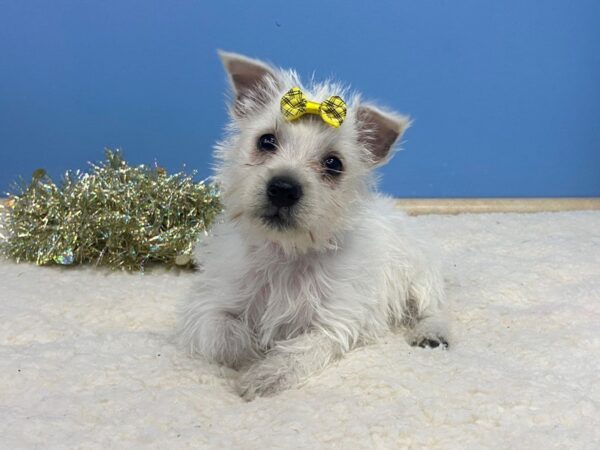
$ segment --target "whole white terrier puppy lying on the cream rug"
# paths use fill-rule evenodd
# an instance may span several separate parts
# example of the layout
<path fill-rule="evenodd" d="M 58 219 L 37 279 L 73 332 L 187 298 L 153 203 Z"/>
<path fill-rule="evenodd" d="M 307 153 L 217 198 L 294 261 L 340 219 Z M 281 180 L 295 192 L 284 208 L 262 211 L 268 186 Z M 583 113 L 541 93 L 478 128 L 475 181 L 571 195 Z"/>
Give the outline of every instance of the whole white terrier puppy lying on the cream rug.
<path fill-rule="evenodd" d="M 411 345 L 447 347 L 436 265 L 394 201 L 374 192 L 373 169 L 408 118 L 355 94 L 330 99 L 324 117 L 328 98 L 348 95 L 339 84 L 303 87 L 293 71 L 220 56 L 234 95 L 215 151 L 225 212 L 198 246 L 182 344 L 240 369 L 247 400 L 302 383 L 390 328 Z M 295 87 L 310 100 L 290 120 L 282 98 Z"/>

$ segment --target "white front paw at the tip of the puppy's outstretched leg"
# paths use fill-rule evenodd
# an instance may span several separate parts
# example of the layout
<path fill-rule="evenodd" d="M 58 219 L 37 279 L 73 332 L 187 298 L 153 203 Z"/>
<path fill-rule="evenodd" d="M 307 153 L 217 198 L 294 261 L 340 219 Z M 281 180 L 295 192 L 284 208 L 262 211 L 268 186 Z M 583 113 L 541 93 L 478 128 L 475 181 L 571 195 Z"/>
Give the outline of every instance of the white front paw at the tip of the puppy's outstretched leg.
<path fill-rule="evenodd" d="M 256 397 L 269 397 L 290 388 L 296 382 L 293 367 L 284 358 L 267 357 L 240 376 L 237 391 L 251 401 Z"/>

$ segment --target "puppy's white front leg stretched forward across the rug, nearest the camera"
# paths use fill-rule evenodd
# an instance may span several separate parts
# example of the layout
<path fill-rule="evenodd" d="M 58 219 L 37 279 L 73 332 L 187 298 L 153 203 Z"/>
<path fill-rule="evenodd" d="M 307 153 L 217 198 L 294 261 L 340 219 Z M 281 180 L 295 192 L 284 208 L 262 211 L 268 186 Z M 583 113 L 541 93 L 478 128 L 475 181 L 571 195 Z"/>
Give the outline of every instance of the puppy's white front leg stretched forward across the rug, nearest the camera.
<path fill-rule="evenodd" d="M 280 341 L 240 377 L 238 392 L 248 401 L 274 395 L 302 383 L 342 352 L 338 342 L 319 332 Z"/>

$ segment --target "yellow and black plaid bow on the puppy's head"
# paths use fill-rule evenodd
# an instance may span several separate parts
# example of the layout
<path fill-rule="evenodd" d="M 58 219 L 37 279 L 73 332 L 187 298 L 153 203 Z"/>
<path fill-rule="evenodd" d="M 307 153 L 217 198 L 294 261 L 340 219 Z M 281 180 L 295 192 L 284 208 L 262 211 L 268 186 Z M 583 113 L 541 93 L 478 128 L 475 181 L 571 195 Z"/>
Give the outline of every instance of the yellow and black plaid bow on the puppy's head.
<path fill-rule="evenodd" d="M 299 119 L 304 114 L 317 114 L 323 122 L 337 128 L 346 118 L 346 109 L 346 102 L 337 95 L 329 97 L 323 103 L 311 102 L 297 87 L 281 97 L 281 112 L 290 121 Z"/>

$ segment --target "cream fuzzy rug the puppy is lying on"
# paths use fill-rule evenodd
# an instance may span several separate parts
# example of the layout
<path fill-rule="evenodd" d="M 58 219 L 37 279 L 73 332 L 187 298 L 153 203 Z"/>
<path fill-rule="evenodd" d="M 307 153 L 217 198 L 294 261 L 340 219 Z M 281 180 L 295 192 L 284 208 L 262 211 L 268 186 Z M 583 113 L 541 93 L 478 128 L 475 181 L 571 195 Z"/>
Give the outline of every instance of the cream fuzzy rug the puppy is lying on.
<path fill-rule="evenodd" d="M 449 351 L 401 336 L 246 403 L 169 343 L 188 272 L 0 261 L 2 448 L 599 448 L 600 213 L 410 218 Z"/>

